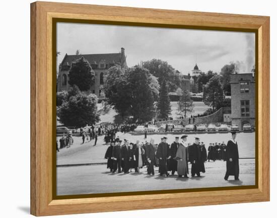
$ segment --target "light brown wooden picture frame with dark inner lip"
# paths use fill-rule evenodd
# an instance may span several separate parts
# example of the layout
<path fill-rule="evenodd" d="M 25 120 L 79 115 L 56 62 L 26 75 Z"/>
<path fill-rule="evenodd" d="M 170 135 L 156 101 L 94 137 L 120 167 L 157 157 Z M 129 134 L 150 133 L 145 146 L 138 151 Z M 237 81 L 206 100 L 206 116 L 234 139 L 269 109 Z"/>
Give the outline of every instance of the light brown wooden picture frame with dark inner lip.
<path fill-rule="evenodd" d="M 256 186 L 54 199 L 53 19 L 256 33 Z M 54 53 L 54 55 L 53 55 Z M 55 68 L 54 68 L 55 69 Z M 31 4 L 31 214 L 56 215 L 269 201 L 269 17 L 35 2 Z"/>

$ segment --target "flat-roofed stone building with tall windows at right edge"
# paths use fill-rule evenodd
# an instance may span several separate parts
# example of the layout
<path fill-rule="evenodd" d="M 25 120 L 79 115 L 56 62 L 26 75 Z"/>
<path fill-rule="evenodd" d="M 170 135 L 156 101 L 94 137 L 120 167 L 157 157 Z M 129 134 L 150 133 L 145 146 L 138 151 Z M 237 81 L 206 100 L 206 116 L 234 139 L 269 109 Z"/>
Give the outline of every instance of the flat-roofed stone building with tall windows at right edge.
<path fill-rule="evenodd" d="M 255 126 L 255 74 L 231 75 L 232 124 Z"/>

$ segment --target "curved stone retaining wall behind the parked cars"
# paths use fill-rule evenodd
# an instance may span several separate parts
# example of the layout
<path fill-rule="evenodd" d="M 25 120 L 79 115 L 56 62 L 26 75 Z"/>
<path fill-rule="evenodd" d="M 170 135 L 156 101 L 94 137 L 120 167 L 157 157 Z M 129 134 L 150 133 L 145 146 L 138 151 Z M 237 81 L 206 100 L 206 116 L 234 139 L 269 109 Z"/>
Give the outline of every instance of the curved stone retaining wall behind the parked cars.
<path fill-rule="evenodd" d="M 190 118 L 191 124 L 207 124 L 207 123 L 216 123 L 223 122 L 223 108 L 220 108 L 215 113 L 203 116 L 203 117 L 195 117 L 193 123 L 193 118 Z M 167 120 L 167 121 L 159 121 L 156 122 L 156 125 L 160 127 L 162 124 L 173 123 L 178 125 L 181 121 L 183 121 L 183 125 L 189 124 L 189 118 L 186 119 L 178 119 L 178 120 Z"/>

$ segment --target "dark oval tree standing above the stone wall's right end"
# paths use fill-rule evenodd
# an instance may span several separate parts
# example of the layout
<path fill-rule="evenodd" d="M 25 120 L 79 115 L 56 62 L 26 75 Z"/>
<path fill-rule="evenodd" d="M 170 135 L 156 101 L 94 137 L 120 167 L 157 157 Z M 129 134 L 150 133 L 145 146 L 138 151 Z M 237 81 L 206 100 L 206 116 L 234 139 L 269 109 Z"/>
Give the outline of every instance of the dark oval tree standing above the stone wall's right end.
<path fill-rule="evenodd" d="M 220 76 L 215 75 L 209 80 L 209 83 L 207 83 L 204 88 L 204 103 L 206 105 L 212 106 L 213 111 L 215 111 L 215 109 L 218 110 L 224 101 L 223 88 L 220 80 Z"/>

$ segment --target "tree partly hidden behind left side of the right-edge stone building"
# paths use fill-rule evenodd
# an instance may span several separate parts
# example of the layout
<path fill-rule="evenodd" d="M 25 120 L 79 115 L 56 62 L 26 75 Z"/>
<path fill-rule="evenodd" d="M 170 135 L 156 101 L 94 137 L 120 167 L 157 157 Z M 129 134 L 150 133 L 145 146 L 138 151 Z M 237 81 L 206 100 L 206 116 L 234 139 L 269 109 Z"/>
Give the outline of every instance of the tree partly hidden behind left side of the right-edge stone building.
<path fill-rule="evenodd" d="M 223 90 L 225 95 L 231 95 L 231 74 L 234 74 L 236 70 L 236 64 L 234 62 L 231 62 L 230 64 L 226 64 L 221 68 L 220 75 L 221 77 L 221 83 L 223 86 Z"/>

